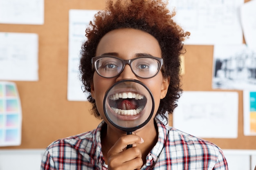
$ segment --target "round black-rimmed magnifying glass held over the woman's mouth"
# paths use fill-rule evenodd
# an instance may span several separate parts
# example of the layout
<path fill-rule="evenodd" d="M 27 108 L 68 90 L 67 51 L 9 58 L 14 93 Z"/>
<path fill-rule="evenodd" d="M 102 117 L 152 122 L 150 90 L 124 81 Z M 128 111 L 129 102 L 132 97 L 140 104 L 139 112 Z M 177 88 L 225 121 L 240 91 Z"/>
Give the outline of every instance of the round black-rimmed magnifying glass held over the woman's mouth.
<path fill-rule="evenodd" d="M 113 126 L 130 135 L 150 121 L 155 102 L 145 84 L 135 79 L 124 79 L 108 89 L 103 100 L 103 109 Z M 132 145 L 127 146 L 130 147 Z"/>

